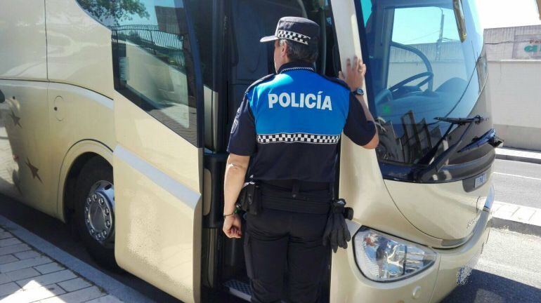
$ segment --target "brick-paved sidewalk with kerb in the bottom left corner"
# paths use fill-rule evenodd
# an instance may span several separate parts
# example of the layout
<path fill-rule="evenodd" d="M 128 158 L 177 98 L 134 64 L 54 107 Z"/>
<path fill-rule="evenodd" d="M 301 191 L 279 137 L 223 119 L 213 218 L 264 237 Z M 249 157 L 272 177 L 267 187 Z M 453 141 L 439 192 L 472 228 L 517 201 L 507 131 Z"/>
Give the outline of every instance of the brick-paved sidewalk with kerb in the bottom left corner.
<path fill-rule="evenodd" d="M 153 302 L 0 215 L 0 303 Z"/>

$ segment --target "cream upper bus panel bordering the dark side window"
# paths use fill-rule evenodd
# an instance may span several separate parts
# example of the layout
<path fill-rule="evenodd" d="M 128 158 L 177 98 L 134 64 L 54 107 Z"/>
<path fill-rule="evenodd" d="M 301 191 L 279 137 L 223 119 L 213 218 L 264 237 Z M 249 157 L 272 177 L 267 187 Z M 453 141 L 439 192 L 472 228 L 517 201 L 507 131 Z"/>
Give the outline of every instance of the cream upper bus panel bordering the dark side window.
<path fill-rule="evenodd" d="M 112 98 L 111 31 L 75 0 L 46 0 L 46 18 L 48 79 Z"/>

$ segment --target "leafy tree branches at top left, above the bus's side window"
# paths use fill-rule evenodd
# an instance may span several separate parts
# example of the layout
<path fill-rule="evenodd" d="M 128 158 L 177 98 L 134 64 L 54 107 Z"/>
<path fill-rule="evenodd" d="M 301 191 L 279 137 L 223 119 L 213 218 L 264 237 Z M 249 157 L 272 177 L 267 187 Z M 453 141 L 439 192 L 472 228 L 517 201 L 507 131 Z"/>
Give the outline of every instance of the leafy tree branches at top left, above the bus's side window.
<path fill-rule="evenodd" d="M 120 21 L 131 20 L 132 15 L 148 18 L 150 15 L 140 0 L 77 0 L 85 11 L 101 22 L 113 20 L 116 25 Z"/>

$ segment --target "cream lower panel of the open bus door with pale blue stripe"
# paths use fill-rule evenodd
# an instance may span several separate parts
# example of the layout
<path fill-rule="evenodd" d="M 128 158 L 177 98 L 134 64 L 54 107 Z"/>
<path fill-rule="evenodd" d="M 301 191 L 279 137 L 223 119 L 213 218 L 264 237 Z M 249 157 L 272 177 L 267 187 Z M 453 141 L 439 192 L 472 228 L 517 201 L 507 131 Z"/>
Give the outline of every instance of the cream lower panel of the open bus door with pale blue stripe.
<path fill-rule="evenodd" d="M 202 151 L 115 96 L 115 258 L 184 302 L 200 291 Z"/>

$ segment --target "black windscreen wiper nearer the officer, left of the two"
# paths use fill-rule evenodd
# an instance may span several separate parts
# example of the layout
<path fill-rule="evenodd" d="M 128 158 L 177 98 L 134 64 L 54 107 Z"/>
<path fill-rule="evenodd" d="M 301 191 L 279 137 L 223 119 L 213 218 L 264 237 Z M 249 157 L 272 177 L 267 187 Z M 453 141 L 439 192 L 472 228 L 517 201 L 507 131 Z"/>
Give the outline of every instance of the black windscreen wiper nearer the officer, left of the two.
<path fill-rule="evenodd" d="M 459 145 L 462 143 L 462 140 L 464 140 L 464 137 L 469 133 L 471 130 L 471 126 L 474 124 L 481 123 L 481 121 L 485 121 L 485 118 L 482 116 L 474 116 L 472 118 L 448 118 L 448 117 L 436 117 L 434 118 L 438 121 L 448 122 L 451 123 L 447 131 L 445 131 L 445 134 L 441 136 L 441 139 L 432 147 L 432 149 L 426 153 L 426 155 L 419 161 L 419 164 L 428 164 L 432 158 L 436 155 L 436 152 L 438 152 L 438 149 L 443 142 L 449 135 L 452 126 L 463 126 L 468 125 L 467 128 L 464 130 L 462 135 L 460 135 L 459 139 L 455 144 L 452 144 L 448 149 L 445 150 L 445 152 L 441 153 L 432 163 L 428 164 L 425 168 L 422 168 L 421 170 L 417 170 L 415 173 L 415 180 L 417 181 L 426 181 L 431 177 L 432 175 L 436 175 L 441 168 L 444 166 L 445 162 L 449 160 L 449 158 L 452 156 L 452 154 L 455 154 L 457 152 L 457 149 Z"/>

